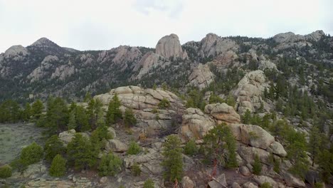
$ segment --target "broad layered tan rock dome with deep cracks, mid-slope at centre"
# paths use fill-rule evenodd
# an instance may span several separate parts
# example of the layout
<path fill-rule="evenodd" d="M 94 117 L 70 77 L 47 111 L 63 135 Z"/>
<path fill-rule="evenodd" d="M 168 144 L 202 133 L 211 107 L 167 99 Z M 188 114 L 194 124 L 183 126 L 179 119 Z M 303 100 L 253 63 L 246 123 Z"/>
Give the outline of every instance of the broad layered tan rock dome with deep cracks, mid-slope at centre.
<path fill-rule="evenodd" d="M 96 95 L 94 98 L 100 99 L 107 108 L 115 93 L 122 104 L 120 110 L 132 108 L 138 120 L 137 127 L 142 127 L 143 130 L 168 128 L 173 122 L 178 122 L 184 110 L 180 98 L 168 90 L 159 88 L 157 90 L 143 89 L 131 85 L 112 89 L 109 93 Z M 163 99 L 169 101 L 169 108 L 159 109 L 159 102 Z"/>

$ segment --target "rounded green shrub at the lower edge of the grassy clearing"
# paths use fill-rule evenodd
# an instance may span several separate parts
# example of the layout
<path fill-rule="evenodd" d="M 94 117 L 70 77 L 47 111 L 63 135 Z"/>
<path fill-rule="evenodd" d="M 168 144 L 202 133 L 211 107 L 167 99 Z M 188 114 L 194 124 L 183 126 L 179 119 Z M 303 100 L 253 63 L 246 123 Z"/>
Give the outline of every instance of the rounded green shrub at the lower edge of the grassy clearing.
<path fill-rule="evenodd" d="M 31 145 L 24 147 L 21 151 L 20 160 L 22 164 L 30 165 L 39 162 L 43 158 L 43 148 L 33 142 Z"/>

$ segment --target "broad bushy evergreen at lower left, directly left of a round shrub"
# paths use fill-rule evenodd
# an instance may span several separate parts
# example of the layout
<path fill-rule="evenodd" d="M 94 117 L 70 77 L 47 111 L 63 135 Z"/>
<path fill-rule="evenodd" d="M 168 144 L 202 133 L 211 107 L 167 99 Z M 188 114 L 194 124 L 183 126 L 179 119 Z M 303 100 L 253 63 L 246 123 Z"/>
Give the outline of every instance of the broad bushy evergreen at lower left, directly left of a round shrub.
<path fill-rule="evenodd" d="M 76 133 L 67 146 L 68 162 L 77 169 L 87 169 L 95 164 L 94 148 L 87 137 Z"/>

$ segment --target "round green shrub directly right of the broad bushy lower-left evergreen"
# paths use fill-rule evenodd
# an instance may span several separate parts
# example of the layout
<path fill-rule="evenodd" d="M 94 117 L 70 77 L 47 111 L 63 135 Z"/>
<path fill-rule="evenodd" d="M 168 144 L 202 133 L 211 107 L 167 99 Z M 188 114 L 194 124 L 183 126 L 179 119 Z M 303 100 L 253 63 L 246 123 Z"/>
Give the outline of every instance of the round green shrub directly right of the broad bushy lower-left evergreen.
<path fill-rule="evenodd" d="M 103 176 L 115 176 L 122 169 L 122 160 L 117 155 L 109 153 L 103 155 L 98 167 L 98 174 Z"/>

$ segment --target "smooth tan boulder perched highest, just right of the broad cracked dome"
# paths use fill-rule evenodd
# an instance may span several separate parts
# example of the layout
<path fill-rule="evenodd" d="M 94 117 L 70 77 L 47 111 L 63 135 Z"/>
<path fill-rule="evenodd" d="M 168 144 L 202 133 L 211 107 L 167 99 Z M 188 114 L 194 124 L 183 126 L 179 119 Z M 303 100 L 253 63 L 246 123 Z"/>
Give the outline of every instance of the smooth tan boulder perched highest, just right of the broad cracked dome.
<path fill-rule="evenodd" d="M 206 105 L 205 113 L 210 114 L 215 117 L 219 122 L 226 123 L 239 123 L 240 115 L 236 113 L 233 107 L 227 105 L 226 103 L 216 103 Z"/>

